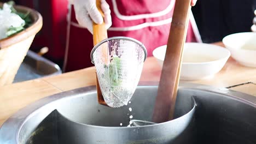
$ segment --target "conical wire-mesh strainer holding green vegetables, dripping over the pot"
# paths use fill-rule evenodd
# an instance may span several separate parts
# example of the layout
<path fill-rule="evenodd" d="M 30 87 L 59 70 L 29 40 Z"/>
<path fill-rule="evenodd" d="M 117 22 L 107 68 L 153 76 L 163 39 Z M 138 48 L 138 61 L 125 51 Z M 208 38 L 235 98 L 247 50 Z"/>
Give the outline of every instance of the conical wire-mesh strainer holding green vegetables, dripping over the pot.
<path fill-rule="evenodd" d="M 138 85 L 145 46 L 136 39 L 112 37 L 98 43 L 91 51 L 102 96 L 110 107 L 127 105 Z"/>

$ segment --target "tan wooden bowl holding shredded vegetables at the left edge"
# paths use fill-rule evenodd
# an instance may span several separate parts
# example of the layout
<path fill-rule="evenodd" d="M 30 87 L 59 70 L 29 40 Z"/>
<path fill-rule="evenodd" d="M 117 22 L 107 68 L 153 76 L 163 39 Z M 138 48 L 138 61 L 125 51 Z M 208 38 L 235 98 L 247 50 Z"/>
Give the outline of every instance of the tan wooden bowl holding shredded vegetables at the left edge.
<path fill-rule="evenodd" d="M 3 3 L 0 3 L 0 7 L 2 5 Z M 13 82 L 35 35 L 43 25 L 42 16 L 36 10 L 19 5 L 14 8 L 21 13 L 29 11 L 32 24 L 24 31 L 0 40 L 0 86 Z"/>

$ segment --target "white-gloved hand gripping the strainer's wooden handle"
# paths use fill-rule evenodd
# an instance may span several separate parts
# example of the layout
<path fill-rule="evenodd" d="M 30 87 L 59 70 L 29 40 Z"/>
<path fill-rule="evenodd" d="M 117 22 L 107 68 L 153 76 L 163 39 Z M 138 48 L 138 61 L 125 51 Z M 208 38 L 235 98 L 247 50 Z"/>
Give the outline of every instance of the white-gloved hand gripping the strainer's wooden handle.
<path fill-rule="evenodd" d="M 69 0 L 70 1 L 70 0 Z M 88 28 L 92 33 L 92 21 L 97 24 L 103 22 L 100 11 L 96 7 L 96 0 L 72 0 L 74 4 L 75 18 L 79 25 Z M 104 22 L 108 29 L 112 25 L 109 5 L 106 0 L 101 0 L 101 9 L 104 13 Z"/>

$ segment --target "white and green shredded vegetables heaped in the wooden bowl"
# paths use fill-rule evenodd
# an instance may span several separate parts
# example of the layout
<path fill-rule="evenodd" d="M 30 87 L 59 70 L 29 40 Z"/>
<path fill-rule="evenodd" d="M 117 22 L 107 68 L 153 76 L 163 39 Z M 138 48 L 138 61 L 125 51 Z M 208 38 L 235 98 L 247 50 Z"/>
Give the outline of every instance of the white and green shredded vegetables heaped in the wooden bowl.
<path fill-rule="evenodd" d="M 13 4 L 4 3 L 0 8 L 0 39 L 19 33 L 30 25 L 29 13 L 19 13 L 13 8 Z"/>

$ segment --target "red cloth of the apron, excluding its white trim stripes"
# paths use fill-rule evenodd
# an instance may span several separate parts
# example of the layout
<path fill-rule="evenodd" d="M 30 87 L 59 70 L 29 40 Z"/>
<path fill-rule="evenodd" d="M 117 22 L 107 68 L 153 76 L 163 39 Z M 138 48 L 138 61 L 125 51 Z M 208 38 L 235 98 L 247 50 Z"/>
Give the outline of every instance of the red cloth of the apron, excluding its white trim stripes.
<path fill-rule="evenodd" d="M 166 9 L 170 1 L 159 3 L 155 0 L 116 0 L 118 10 L 121 15 L 131 16 L 138 14 L 156 13 Z M 130 27 L 145 22 L 157 22 L 172 17 L 173 9 L 170 13 L 159 17 L 139 20 L 120 20 L 113 11 L 112 1 L 107 1 L 110 6 L 112 15 L 112 27 Z M 154 5 L 154 3 L 156 3 Z M 72 21 L 76 22 L 74 11 L 72 13 Z M 148 56 L 152 56 L 152 52 L 156 47 L 167 44 L 168 34 L 170 32 L 170 23 L 161 26 L 149 26 L 135 31 L 108 31 L 108 37 L 125 36 L 135 38 L 141 41 L 147 48 Z M 188 42 L 196 41 L 193 29 L 189 23 L 187 40 Z M 87 29 L 71 26 L 71 34 L 69 40 L 69 52 L 66 71 L 72 71 L 91 67 L 90 52 L 93 47 L 92 35 Z"/>

